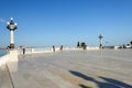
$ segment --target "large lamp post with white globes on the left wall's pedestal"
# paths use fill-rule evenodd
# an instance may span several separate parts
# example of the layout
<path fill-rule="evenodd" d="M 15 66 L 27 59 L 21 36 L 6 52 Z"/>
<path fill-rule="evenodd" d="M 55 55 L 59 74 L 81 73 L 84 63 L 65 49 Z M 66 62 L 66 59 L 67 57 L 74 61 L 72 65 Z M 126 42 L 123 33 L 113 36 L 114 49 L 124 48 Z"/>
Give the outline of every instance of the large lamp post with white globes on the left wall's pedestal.
<path fill-rule="evenodd" d="M 7 29 L 10 30 L 10 48 L 14 48 L 14 35 L 13 31 L 16 30 L 16 23 L 13 22 L 13 18 L 11 18 L 10 22 L 7 22 Z"/>

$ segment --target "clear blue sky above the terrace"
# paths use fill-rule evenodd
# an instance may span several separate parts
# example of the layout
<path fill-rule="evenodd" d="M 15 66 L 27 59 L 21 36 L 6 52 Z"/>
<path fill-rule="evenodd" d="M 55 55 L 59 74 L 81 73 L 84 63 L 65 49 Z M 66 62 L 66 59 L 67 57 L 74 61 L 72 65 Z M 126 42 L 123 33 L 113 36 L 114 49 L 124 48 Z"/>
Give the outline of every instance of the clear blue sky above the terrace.
<path fill-rule="evenodd" d="M 0 46 L 10 44 L 10 18 L 16 46 L 98 46 L 99 34 L 105 45 L 132 41 L 132 0 L 0 0 Z"/>

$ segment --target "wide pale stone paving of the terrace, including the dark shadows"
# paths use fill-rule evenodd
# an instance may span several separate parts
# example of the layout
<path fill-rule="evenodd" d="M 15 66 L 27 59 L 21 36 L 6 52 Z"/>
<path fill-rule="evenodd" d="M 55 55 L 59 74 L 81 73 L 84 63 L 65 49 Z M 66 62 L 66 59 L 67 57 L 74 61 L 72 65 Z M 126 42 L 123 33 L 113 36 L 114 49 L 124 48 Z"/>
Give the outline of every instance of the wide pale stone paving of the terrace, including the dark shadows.
<path fill-rule="evenodd" d="M 132 88 L 132 50 L 25 55 L 13 68 L 14 88 Z M 4 73 L 0 88 L 11 88 Z"/>

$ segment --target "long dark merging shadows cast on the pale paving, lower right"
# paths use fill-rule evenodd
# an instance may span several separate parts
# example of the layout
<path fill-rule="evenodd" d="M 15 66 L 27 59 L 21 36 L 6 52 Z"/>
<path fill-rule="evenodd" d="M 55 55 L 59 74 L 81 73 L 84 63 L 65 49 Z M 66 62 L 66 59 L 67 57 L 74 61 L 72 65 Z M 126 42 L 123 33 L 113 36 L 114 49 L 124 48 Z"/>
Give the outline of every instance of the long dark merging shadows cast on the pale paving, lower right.
<path fill-rule="evenodd" d="M 95 82 L 98 86 L 98 88 L 132 88 L 132 85 L 125 84 L 125 82 L 117 80 L 117 79 L 98 76 L 99 78 L 105 80 L 105 82 L 102 82 L 102 81 L 98 81 L 91 77 L 88 77 L 79 72 L 74 72 L 74 70 L 69 70 L 69 72 L 73 75 L 78 76 L 85 80 Z M 79 86 L 81 88 L 91 88 L 91 87 L 87 87 L 87 86 L 81 85 L 81 84 L 79 84 Z"/>

